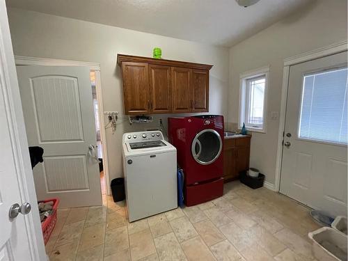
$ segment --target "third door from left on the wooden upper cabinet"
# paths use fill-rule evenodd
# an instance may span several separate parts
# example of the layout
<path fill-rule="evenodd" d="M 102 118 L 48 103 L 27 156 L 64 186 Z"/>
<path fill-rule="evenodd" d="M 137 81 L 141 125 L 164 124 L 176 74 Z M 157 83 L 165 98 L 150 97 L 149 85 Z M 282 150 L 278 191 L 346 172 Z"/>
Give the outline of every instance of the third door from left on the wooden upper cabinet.
<path fill-rule="evenodd" d="M 172 101 L 173 113 L 190 112 L 192 70 L 189 68 L 172 67 Z"/>

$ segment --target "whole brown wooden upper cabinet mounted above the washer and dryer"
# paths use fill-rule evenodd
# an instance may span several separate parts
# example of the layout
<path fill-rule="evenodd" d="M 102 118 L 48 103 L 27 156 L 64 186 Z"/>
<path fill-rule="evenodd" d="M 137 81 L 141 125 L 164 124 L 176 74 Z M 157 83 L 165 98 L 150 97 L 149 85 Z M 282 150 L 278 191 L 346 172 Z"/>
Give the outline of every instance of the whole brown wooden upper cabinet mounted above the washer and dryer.
<path fill-rule="evenodd" d="M 125 114 L 209 111 L 212 65 L 118 54 Z"/>

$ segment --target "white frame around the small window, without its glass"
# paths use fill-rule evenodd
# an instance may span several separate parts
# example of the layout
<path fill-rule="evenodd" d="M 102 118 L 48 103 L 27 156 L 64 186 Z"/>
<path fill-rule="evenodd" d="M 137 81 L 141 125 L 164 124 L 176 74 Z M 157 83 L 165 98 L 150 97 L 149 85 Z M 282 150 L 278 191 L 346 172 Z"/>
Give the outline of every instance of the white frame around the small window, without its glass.
<path fill-rule="evenodd" d="M 246 81 L 249 79 L 262 77 L 264 76 L 264 106 L 263 106 L 263 124 L 262 127 L 252 127 L 246 124 L 246 130 L 250 132 L 267 132 L 267 98 L 268 98 L 268 86 L 269 86 L 269 66 L 264 66 L 262 68 L 258 68 L 256 70 L 244 72 L 239 76 L 239 114 L 238 114 L 238 127 L 242 129 L 243 122 L 245 122 L 245 111 L 246 105 L 248 102 L 246 101 Z"/>

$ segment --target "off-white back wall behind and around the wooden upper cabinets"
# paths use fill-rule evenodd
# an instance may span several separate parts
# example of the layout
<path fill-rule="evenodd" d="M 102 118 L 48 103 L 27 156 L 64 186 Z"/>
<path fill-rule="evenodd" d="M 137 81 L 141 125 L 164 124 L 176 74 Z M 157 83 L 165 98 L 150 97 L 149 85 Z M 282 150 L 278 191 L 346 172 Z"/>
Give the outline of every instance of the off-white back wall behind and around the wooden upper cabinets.
<path fill-rule="evenodd" d="M 122 176 L 122 134 L 150 127 L 129 126 L 122 115 L 117 54 L 151 57 L 153 47 L 161 47 L 163 58 L 214 65 L 210 71 L 209 113 L 227 117 L 228 48 L 26 10 L 10 8 L 8 15 L 15 55 L 100 63 L 104 111 L 119 111 L 121 114 L 116 134 L 111 134 L 111 129 L 106 131 L 111 179 Z M 152 126 L 158 126 L 159 118 L 166 124 L 167 117 L 161 115 L 156 117 Z"/>

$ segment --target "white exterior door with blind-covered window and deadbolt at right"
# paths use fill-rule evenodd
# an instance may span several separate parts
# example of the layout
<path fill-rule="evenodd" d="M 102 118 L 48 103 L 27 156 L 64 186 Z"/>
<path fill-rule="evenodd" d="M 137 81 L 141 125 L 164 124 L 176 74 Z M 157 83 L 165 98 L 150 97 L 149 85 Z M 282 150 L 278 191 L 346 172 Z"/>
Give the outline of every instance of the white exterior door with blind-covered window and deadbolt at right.
<path fill-rule="evenodd" d="M 280 192 L 347 214 L 347 52 L 290 67 Z"/>

